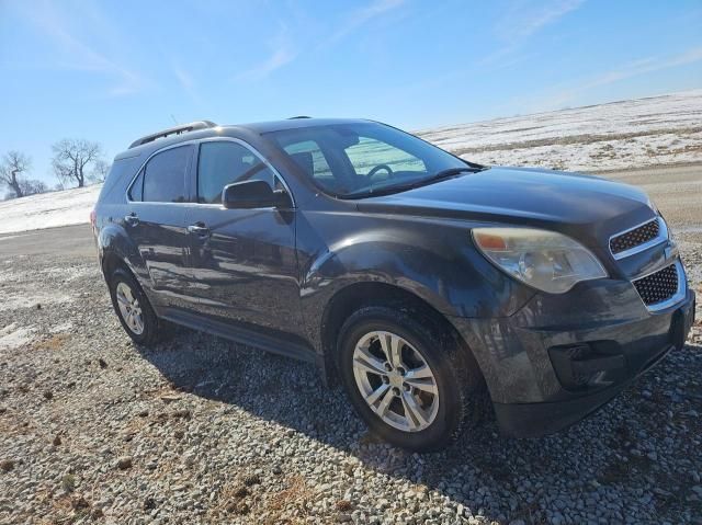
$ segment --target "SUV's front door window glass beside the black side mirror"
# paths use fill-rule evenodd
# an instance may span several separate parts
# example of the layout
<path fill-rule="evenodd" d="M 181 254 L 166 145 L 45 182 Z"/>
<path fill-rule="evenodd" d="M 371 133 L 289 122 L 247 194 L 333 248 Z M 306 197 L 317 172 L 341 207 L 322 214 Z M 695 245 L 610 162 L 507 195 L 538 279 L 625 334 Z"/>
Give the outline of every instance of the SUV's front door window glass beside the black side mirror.
<path fill-rule="evenodd" d="M 197 160 L 197 202 L 222 204 L 222 191 L 227 184 L 244 181 L 265 181 L 274 186 L 271 170 L 240 144 L 213 141 L 200 145 Z"/>

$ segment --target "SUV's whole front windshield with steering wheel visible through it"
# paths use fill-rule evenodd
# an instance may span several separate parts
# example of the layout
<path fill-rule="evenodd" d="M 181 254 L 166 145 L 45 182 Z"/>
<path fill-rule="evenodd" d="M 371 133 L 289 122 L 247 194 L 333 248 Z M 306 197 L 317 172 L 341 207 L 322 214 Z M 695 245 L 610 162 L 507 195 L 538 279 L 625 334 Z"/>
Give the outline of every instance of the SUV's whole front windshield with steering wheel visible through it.
<path fill-rule="evenodd" d="M 317 186 L 344 198 L 416 187 L 446 170 L 469 170 L 474 166 L 412 135 L 376 123 L 301 127 L 268 136 Z"/>

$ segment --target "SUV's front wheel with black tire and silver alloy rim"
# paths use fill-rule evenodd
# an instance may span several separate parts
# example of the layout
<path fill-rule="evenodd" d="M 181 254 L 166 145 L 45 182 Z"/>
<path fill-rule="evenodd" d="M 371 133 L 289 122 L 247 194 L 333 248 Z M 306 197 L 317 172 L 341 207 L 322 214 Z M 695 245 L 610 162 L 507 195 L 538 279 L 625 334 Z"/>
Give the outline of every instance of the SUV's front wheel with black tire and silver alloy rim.
<path fill-rule="evenodd" d="M 397 341 L 399 358 L 387 357 L 383 339 L 386 349 Z M 375 374 L 383 356 L 386 378 Z M 401 366 L 394 366 L 398 363 Z M 487 392 L 477 363 L 446 329 L 421 312 L 358 310 L 339 333 L 338 365 L 351 403 L 371 432 L 401 448 L 444 448 L 485 414 Z M 432 377 L 420 378 L 427 367 Z M 387 401 L 388 396 L 396 399 Z"/>

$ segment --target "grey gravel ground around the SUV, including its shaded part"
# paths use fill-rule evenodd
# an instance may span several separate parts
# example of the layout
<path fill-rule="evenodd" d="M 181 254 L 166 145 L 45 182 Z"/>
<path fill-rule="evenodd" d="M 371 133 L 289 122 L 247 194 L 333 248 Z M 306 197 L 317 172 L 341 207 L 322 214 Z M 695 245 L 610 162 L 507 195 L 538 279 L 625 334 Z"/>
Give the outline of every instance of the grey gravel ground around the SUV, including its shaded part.
<path fill-rule="evenodd" d="M 700 292 L 700 235 L 680 238 Z M 700 317 L 700 312 L 698 312 Z M 134 345 L 94 260 L 0 261 L 0 523 L 702 523 L 702 326 L 556 436 L 376 442 L 313 366 Z"/>

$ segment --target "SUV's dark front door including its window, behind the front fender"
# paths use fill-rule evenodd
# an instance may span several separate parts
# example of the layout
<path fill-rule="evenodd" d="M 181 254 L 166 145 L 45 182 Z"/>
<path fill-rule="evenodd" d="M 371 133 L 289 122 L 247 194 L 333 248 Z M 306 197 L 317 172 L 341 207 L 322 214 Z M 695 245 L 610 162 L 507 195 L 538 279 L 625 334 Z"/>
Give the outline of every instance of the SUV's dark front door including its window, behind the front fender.
<path fill-rule="evenodd" d="M 276 336 L 303 334 L 295 252 L 295 210 L 225 209 L 224 186 L 282 181 L 249 147 L 234 140 L 203 141 L 196 170 L 197 204 L 189 206 L 191 293 L 200 311 Z"/>

